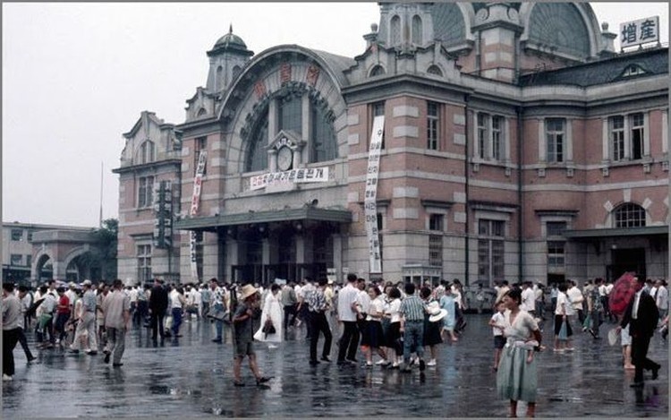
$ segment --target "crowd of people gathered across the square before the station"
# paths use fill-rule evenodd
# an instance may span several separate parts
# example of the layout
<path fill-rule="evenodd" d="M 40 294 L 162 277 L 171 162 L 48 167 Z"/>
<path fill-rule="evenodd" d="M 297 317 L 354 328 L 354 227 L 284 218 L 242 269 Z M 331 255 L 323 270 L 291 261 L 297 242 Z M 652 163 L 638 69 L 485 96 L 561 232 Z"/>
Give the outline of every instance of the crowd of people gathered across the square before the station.
<path fill-rule="evenodd" d="M 123 365 L 125 334 L 132 325 L 149 329 L 157 345 L 158 339 L 182 336 L 184 317 L 211 322 L 216 343 L 223 342 L 224 325 L 229 324 L 234 385 L 245 385 L 242 362 L 247 358 L 257 386 L 264 386 L 271 378 L 259 370 L 254 343 L 276 348 L 288 331 L 302 333 L 302 325 L 310 341 L 311 366 L 332 362 L 334 336 L 339 334 L 336 364 L 379 366 L 403 373 L 436 366 L 438 347 L 457 344 L 466 327 L 463 285 L 458 279 L 415 285 L 369 281 L 349 274 L 343 285 L 305 278 L 266 288 L 222 284 L 217 279 L 188 285 L 155 279 L 153 285 L 133 287 L 124 287 L 121 280 L 111 285 L 100 282 L 96 287 L 89 280 L 61 286 L 52 280 L 34 292 L 23 286 L 14 290 L 11 283 L 3 287 L 4 381 L 12 380 L 17 343 L 29 363 L 35 359 L 26 340 L 25 331 L 30 329 L 35 331 L 40 350 L 63 348 L 72 355 L 89 356 L 102 352 L 105 363 L 112 359 L 118 367 Z M 633 386 L 641 386 L 644 370 L 652 371 L 652 378 L 657 379 L 660 365 L 647 358 L 647 351 L 658 327 L 662 337 L 667 337 L 665 280 L 635 279 L 636 294 L 624 313 L 609 311 L 612 283 L 603 279 L 588 280 L 582 289 L 571 280 L 551 287 L 501 281 L 494 288 L 496 300 L 489 321 L 494 338 L 492 370 L 499 397 L 510 400 L 511 416 L 516 415 L 518 400 L 526 401 L 527 415 L 534 416 L 538 383 L 534 355 L 546 349 L 541 332 L 548 320 L 554 319 L 553 352 L 568 354 L 573 351 L 575 333 L 600 339 L 602 324 L 617 324 L 614 330 L 622 342 L 623 367 L 635 371 Z M 320 352 L 319 339 L 323 339 Z"/>

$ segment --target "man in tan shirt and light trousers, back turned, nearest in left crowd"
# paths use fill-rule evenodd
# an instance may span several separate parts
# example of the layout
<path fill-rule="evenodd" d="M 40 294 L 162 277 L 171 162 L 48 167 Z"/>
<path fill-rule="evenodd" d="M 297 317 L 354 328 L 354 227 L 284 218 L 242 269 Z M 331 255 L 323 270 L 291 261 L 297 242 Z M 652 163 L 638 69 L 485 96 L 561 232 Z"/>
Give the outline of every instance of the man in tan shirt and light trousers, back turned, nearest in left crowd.
<path fill-rule="evenodd" d="M 131 322 L 131 298 L 123 293 L 123 281 L 116 279 L 112 287 L 114 290 L 103 300 L 103 313 L 105 313 L 105 330 L 107 332 L 107 345 L 105 347 L 105 363 L 109 363 L 109 357 L 114 353 L 112 365 L 121 366 L 121 357 L 126 347 L 126 331 Z"/>

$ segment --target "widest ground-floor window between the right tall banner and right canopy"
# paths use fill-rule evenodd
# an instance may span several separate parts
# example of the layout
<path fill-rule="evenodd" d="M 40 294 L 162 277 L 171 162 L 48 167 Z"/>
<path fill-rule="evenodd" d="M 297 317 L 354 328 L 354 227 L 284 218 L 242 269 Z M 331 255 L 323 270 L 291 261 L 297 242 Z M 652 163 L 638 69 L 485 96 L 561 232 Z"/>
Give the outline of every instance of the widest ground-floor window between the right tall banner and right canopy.
<path fill-rule="evenodd" d="M 478 236 L 478 279 L 490 285 L 505 274 L 505 221 L 480 219 Z"/>

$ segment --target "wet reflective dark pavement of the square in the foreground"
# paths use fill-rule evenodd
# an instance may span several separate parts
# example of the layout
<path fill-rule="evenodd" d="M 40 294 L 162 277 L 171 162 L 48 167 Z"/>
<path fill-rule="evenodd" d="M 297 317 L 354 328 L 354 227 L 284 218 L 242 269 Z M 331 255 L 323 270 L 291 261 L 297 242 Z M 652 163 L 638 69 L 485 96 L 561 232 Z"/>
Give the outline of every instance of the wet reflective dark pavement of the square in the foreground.
<path fill-rule="evenodd" d="M 274 379 L 266 389 L 242 365 L 247 386 L 233 385 L 230 330 L 225 342 L 211 342 L 208 321 L 183 325 L 183 337 L 153 347 L 149 330 L 135 327 L 126 339 L 123 366 L 98 356 L 68 356 L 62 350 L 34 350 L 26 363 L 14 349 L 14 381 L 3 383 L 3 418 L 26 417 L 505 417 L 507 401 L 497 399 L 491 371 L 493 349 L 488 314 L 468 314 L 468 326 L 455 345 L 443 344 L 437 367 L 400 373 L 379 366 L 308 364 L 305 330 L 290 331 L 277 348 L 255 343 L 259 366 Z M 633 390 L 633 371 L 625 372 L 621 347 L 587 333 L 574 336 L 575 351 L 551 351 L 551 325 L 544 333 L 548 350 L 539 357 L 539 417 L 668 418 L 668 346 L 658 334 L 649 356 L 664 368 L 656 381 Z M 332 358 L 337 354 L 335 333 Z M 32 334 L 29 334 L 34 349 Z M 322 340 L 319 341 L 319 351 Z M 363 360 L 361 352 L 357 356 Z M 525 406 L 520 403 L 518 414 Z"/>

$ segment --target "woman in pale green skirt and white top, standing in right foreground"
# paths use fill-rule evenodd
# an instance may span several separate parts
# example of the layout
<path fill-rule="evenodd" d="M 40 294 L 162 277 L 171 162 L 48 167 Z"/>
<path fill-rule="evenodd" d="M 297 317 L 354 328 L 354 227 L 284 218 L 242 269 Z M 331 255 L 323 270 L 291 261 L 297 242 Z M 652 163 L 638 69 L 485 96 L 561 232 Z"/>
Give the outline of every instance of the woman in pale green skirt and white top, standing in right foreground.
<path fill-rule="evenodd" d="M 503 302 L 505 347 L 497 371 L 497 392 L 501 399 L 510 400 L 510 416 L 517 416 L 517 401 L 527 402 L 527 416 L 536 411 L 538 376 L 534 351 L 540 347 L 538 323 L 530 313 L 522 311 L 522 290 L 512 288 Z"/>

